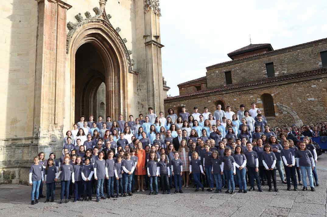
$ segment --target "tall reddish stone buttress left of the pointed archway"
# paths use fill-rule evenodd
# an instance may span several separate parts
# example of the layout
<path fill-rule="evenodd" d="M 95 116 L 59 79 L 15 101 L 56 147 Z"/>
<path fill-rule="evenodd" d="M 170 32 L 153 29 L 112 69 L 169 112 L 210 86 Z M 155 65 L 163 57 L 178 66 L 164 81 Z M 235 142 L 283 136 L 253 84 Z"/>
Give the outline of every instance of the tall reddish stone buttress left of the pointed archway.
<path fill-rule="evenodd" d="M 66 12 L 71 6 L 62 0 L 36 1 L 39 23 L 33 135 L 38 137 L 34 143 L 39 151 L 49 152 L 48 145 L 62 139 Z"/>

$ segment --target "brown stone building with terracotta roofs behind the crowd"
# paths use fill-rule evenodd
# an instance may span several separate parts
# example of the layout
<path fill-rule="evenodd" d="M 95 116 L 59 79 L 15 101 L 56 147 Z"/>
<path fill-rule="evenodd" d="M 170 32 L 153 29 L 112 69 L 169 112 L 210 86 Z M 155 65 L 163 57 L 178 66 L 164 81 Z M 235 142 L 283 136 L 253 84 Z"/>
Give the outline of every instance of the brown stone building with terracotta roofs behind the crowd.
<path fill-rule="evenodd" d="M 165 112 L 188 112 L 221 104 L 235 113 L 240 104 L 260 108 L 271 126 L 326 120 L 327 38 L 273 50 L 250 44 L 228 53 L 231 61 L 206 67 L 205 77 L 178 84 L 180 95 L 164 100 Z"/>

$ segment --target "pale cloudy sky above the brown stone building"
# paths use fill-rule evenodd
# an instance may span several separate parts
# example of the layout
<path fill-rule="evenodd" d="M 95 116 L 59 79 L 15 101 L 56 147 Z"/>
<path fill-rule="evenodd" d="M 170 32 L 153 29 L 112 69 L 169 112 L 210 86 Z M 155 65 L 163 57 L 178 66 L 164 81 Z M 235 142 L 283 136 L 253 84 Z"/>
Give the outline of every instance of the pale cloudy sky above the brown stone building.
<path fill-rule="evenodd" d="M 274 50 L 327 37 L 325 1 L 161 0 L 163 77 L 177 84 L 206 75 L 206 67 L 231 60 L 227 53 L 250 44 Z"/>

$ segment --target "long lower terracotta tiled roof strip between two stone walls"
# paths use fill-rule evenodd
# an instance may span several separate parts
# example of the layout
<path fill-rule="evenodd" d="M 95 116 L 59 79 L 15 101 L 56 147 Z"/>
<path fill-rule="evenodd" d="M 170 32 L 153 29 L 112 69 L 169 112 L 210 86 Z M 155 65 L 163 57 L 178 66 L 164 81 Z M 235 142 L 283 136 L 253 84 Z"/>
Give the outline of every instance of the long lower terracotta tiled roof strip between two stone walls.
<path fill-rule="evenodd" d="M 190 96 L 198 96 L 198 95 L 202 95 L 202 94 L 217 93 L 217 92 L 221 92 L 221 91 L 227 91 L 227 90 L 233 90 L 233 89 L 239 89 L 239 88 L 245 88 L 245 87 L 253 87 L 253 86 L 257 86 L 257 85 L 275 83 L 275 82 L 280 82 L 280 81 L 308 78 L 308 77 L 319 76 L 319 75 L 324 75 L 324 74 L 327 74 L 327 68 L 320 68 L 320 69 L 315 69 L 315 70 L 311 70 L 311 71 L 292 73 L 292 74 L 276 76 L 276 77 L 260 79 L 260 80 L 253 80 L 253 81 L 239 83 L 239 84 L 225 85 L 225 86 L 221 86 L 221 87 L 215 88 L 215 89 L 207 89 L 207 90 L 201 90 L 198 92 L 187 93 L 187 94 L 183 94 L 183 95 L 179 95 L 179 96 L 167 97 L 166 99 L 164 99 L 164 101 L 168 101 L 171 99 L 190 97 Z"/>

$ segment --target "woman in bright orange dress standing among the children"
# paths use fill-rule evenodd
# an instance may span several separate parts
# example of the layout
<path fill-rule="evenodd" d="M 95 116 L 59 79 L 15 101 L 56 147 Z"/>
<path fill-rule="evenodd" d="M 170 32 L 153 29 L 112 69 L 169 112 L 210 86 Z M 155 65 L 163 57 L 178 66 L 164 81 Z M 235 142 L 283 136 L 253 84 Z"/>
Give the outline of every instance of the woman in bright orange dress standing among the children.
<path fill-rule="evenodd" d="M 146 154 L 145 154 L 145 150 L 142 147 L 141 142 L 137 143 L 135 155 L 137 156 L 137 165 L 135 168 L 136 170 L 135 175 L 137 176 L 137 184 L 138 184 L 137 192 L 139 192 L 140 190 L 144 192 L 143 185 L 144 185 L 144 175 L 146 175 L 146 170 L 145 170 Z"/>

